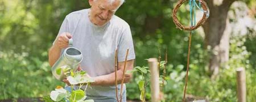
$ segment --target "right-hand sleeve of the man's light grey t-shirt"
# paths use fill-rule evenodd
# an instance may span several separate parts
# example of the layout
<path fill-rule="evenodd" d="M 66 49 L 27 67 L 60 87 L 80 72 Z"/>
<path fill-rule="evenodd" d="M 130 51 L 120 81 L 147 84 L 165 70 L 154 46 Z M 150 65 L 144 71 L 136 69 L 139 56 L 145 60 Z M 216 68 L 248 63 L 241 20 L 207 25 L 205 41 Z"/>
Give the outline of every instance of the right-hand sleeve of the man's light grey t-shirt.
<path fill-rule="evenodd" d="M 125 61 L 126 50 L 129 49 L 127 61 L 135 59 L 133 38 L 131 36 L 130 27 L 126 27 L 121 34 L 120 41 L 118 43 L 118 62 Z"/>

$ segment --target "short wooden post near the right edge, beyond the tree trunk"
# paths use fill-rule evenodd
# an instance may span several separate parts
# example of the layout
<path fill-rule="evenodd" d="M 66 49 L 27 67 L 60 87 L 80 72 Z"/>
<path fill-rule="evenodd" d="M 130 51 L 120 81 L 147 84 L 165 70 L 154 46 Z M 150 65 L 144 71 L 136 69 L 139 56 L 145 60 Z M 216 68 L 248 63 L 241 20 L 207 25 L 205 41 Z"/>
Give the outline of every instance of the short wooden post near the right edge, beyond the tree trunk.
<path fill-rule="evenodd" d="M 239 67 L 237 69 L 237 100 L 238 102 L 246 102 L 246 75 L 245 69 Z"/>

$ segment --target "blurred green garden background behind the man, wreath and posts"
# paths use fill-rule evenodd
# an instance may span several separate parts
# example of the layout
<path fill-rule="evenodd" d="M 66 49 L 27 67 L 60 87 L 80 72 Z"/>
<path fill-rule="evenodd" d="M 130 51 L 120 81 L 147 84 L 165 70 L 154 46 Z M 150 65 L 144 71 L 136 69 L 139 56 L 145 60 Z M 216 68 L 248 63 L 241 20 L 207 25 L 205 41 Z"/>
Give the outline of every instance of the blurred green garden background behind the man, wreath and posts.
<path fill-rule="evenodd" d="M 247 101 L 256 101 L 256 1 L 205 0 L 207 22 L 193 31 L 188 96 L 209 101 L 237 101 L 236 69 L 246 70 Z M 164 101 L 181 101 L 187 65 L 188 31 L 172 21 L 174 0 L 126 0 L 115 15 L 130 24 L 136 54 L 135 66 L 168 50 Z M 64 83 L 53 78 L 48 49 L 65 15 L 89 8 L 87 0 L 0 0 L 0 101 L 49 96 Z M 202 12 L 197 10 L 197 20 Z M 189 5 L 177 12 L 190 24 Z M 161 73 L 162 74 L 161 69 Z M 138 80 L 127 84 L 127 99 L 139 100 Z M 31 99 L 31 100 L 30 100 Z M 150 100 L 150 87 L 146 99 Z"/>

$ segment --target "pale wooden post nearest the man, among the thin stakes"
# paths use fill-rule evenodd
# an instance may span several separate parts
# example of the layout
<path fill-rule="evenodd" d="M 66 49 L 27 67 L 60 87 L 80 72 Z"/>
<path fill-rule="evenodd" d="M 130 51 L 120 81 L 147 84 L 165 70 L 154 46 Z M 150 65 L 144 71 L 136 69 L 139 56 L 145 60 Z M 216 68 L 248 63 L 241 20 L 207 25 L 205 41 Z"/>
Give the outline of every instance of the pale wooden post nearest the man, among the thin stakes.
<path fill-rule="evenodd" d="M 159 101 L 159 71 L 158 71 L 158 59 L 150 58 L 148 59 L 148 65 L 150 67 L 150 82 L 151 82 L 151 101 L 158 102 Z"/>

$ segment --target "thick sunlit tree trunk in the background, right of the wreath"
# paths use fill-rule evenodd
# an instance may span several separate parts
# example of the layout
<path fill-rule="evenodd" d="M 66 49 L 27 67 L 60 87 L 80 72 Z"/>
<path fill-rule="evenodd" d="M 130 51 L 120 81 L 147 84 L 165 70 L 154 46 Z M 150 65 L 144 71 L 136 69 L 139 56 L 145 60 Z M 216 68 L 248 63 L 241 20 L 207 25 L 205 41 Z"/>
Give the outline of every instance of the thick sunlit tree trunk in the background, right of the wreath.
<path fill-rule="evenodd" d="M 229 59 L 229 27 L 228 11 L 236 0 L 207 0 L 210 16 L 203 25 L 205 32 L 205 47 L 210 46 L 213 51 L 209 61 L 212 76 L 218 74 L 221 63 Z"/>

